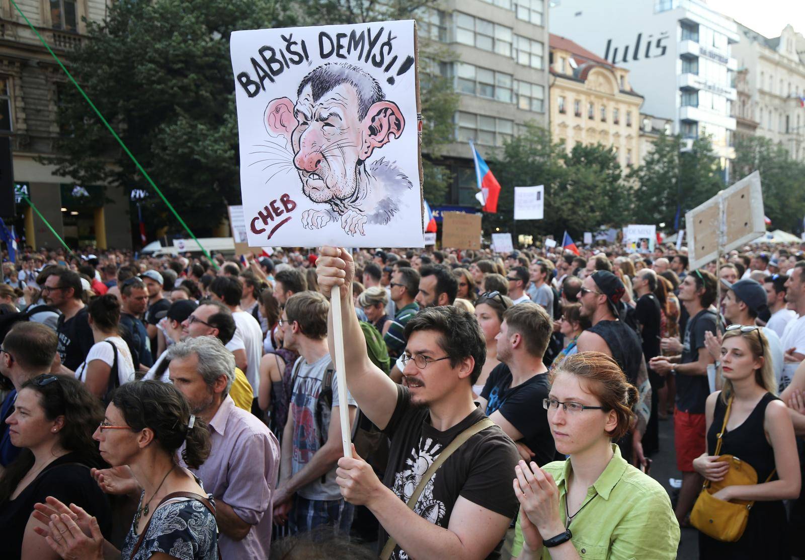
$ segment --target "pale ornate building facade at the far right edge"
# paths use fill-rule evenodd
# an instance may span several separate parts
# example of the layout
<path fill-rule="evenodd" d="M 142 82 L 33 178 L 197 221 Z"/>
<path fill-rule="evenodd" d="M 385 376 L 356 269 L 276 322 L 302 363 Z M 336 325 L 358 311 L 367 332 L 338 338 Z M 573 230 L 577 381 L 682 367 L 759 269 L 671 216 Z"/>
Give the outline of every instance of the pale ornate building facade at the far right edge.
<path fill-rule="evenodd" d="M 754 121 L 755 134 L 805 160 L 805 37 L 791 25 L 773 39 L 737 25 L 741 40 L 733 54 L 741 67 L 739 118 Z"/>

